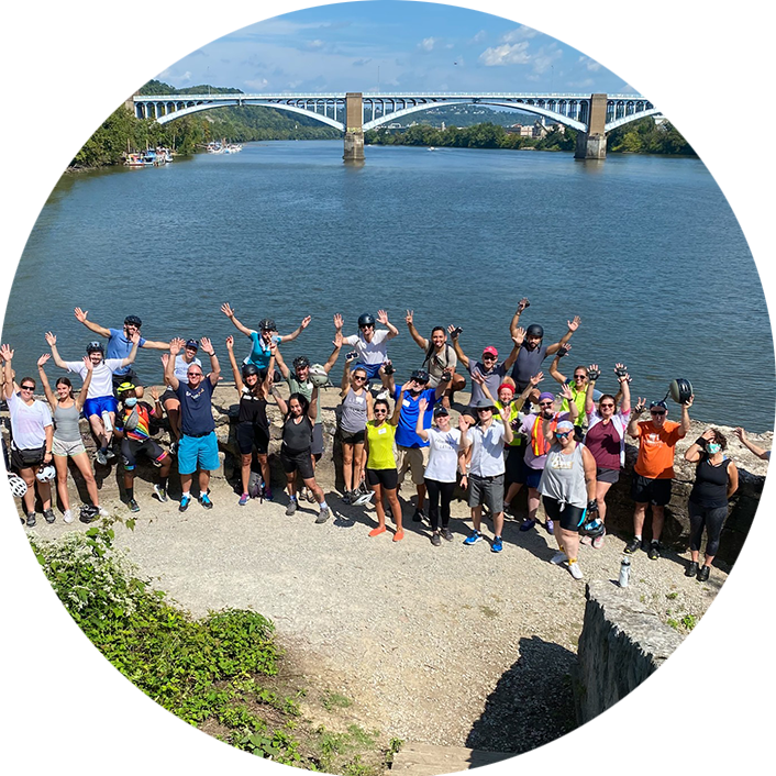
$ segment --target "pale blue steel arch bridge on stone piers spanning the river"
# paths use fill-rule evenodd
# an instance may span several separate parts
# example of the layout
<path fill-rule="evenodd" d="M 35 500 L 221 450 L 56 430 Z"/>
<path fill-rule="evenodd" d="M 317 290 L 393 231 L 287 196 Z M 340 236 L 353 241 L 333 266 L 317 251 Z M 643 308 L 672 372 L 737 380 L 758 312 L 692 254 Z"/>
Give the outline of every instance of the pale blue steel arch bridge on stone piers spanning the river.
<path fill-rule="evenodd" d="M 607 134 L 651 115 L 684 110 L 727 110 L 776 125 L 776 99 L 762 97 L 573 95 L 573 93 L 407 93 L 157 95 L 134 97 L 135 115 L 166 124 L 213 108 L 264 106 L 306 115 L 345 135 L 346 162 L 364 159 L 364 131 L 429 108 L 480 104 L 511 108 L 577 131 L 576 158 L 606 158 Z"/>

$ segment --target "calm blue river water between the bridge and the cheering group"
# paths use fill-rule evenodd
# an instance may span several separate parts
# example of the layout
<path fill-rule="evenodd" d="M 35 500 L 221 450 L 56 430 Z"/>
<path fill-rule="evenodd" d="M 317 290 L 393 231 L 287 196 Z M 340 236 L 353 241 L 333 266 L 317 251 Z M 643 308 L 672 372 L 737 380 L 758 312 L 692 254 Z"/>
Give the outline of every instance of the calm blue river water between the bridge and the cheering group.
<path fill-rule="evenodd" d="M 361 312 L 386 308 L 401 377 L 422 358 L 407 308 L 426 335 L 464 326 L 469 355 L 507 352 L 525 295 L 523 323 L 547 341 L 581 315 L 565 374 L 599 362 L 613 387 L 623 361 L 636 395 L 687 377 L 697 417 L 774 428 L 776 165 L 369 147 L 354 169 L 341 156 L 339 142 L 264 143 L 0 189 L 0 340 L 16 368 L 34 373 L 47 329 L 65 357 L 84 353 L 75 306 L 102 325 L 136 313 L 152 339 L 210 335 L 225 362 L 226 334 L 242 342 L 219 311 L 230 301 L 281 333 L 310 313 L 284 353 L 313 361 L 330 353 L 334 312 L 354 333 Z M 138 368 L 159 379 L 158 354 Z"/>

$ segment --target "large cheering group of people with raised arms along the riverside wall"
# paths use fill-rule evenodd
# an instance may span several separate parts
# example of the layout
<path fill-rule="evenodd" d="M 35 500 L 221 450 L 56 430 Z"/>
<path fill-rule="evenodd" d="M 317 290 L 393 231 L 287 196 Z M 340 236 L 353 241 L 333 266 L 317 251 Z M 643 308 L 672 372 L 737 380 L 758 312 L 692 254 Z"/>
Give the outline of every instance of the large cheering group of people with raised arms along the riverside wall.
<path fill-rule="evenodd" d="M 638 444 L 639 455 L 632 479 L 634 536 L 628 542 L 625 553 L 643 547 L 651 559 L 659 558 L 675 448 L 690 430 L 691 391 L 685 390 L 678 397 L 680 420 L 676 422 L 667 419 L 664 399 L 647 403 L 639 398 L 632 406 L 631 377 L 623 364 L 613 367 L 617 381 L 613 393 L 601 393 L 596 388 L 601 378 L 597 364 L 576 366 L 567 378 L 561 372 L 562 359 L 572 350 L 569 343 L 580 319 L 568 321 L 564 336 L 547 344 L 541 325 L 520 325 L 529 306 L 528 299 L 521 299 L 517 307 L 510 324 L 512 347 L 503 361 L 492 345 L 487 345 L 478 357 L 467 355 L 462 344 L 463 329 L 456 325 L 434 326 L 430 336 L 424 337 L 415 328 L 413 312 L 407 311 L 404 322 L 423 358 L 409 380 L 399 386 L 388 355 L 389 343 L 399 335 L 399 330 L 385 310 L 379 310 L 376 318 L 362 314 L 357 333 L 350 336 L 343 335 L 342 317 L 334 315 L 333 350 L 328 359 L 312 364 L 300 356 L 289 366 L 282 358 L 281 346 L 307 329 L 310 317 L 293 332 L 281 335 L 267 318 L 259 321 L 257 329 L 250 329 L 224 303 L 223 314 L 251 341 L 251 351 L 241 361 L 235 356 L 234 337 L 229 336 L 225 343 L 240 401 L 237 503 L 246 506 L 255 497 L 273 498 L 267 407 L 274 401 L 282 415 L 279 458 L 288 491 L 286 513 L 293 514 L 299 500 L 308 499 L 319 505 L 317 522 L 329 519 L 331 508 L 315 480 L 315 464 L 324 452 L 319 389 L 328 384 L 343 345 L 347 345 L 353 350 L 344 358 L 337 409 L 344 480 L 341 498 L 352 505 L 374 500 L 377 525 L 370 536 L 388 531 L 390 513 L 392 540 L 402 540 L 399 489 L 409 474 L 417 496 L 412 520 L 428 519 L 434 546 L 440 546 L 442 540 L 453 540 L 451 502 L 459 485 L 467 492 L 473 523 L 464 544 L 472 546 L 484 541 L 486 510 L 492 522 L 490 550 L 499 553 L 503 550 L 505 511 L 525 488 L 528 513 L 520 530 L 530 531 L 539 524 L 539 507 L 543 503 L 544 529 L 555 536 L 558 545 L 552 562 L 566 567 L 575 579 L 581 579 L 579 544 L 600 547 L 605 541 L 606 498 L 619 480 L 630 437 Z M 34 397 L 37 386 L 34 378 L 24 377 L 16 383 L 13 350 L 10 345 L 0 347 L 3 393 L 12 432 L 10 458 L 4 441 L 0 440 L 0 475 L 4 478 L 0 487 L 0 536 L 9 536 L 19 522 L 9 517 L 9 495 L 22 499 L 26 524 L 34 525 L 37 491 L 44 519 L 54 522 L 51 495 L 54 479 L 64 520 L 74 519 L 67 489 L 69 458 L 79 469 L 91 501 L 81 508 L 81 519 L 90 521 L 101 513 L 92 463 L 78 428 L 81 413 L 97 442 L 98 466 L 109 465 L 118 447 L 124 473 L 123 496 L 132 511 L 140 509 L 134 497 L 134 470 L 140 455 L 149 458 L 158 469 L 153 487 L 160 501 L 168 500 L 168 477 L 173 459 L 177 458 L 181 488 L 178 509 L 188 509 L 197 473 L 197 500 L 203 508 L 212 508 L 210 473 L 220 466 L 212 395 L 221 378 L 212 342 L 207 337 L 145 340 L 136 315 L 129 315 L 122 329 L 101 326 L 80 308 L 76 308 L 75 315 L 92 333 L 107 339 L 107 345 L 95 340 L 87 345 L 87 355 L 81 361 L 64 361 L 56 335 L 46 333 L 51 354 L 37 362 L 45 402 Z M 133 368 L 138 348 L 164 351 L 165 390 L 159 396 L 151 388 L 151 402 L 143 400 L 145 389 Z M 200 355 L 207 356 L 209 368 L 203 366 Z M 550 356 L 553 359 L 548 375 L 558 384 L 555 392 L 540 386 L 545 380 L 542 368 Z M 64 376 L 56 380 L 55 390 L 51 389 L 45 373 L 49 359 L 81 377 L 77 395 L 69 378 Z M 451 408 L 455 392 L 466 385 L 464 372 L 468 373 L 470 398 L 454 424 Z M 278 392 L 282 381 L 289 387 L 288 399 Z M 648 418 L 644 418 L 647 409 Z M 165 414 L 171 439 L 169 450 L 163 450 L 154 439 L 153 426 Z M 742 429 L 736 434 L 755 455 L 776 463 L 776 451 L 766 452 L 752 444 Z M 700 581 L 709 578 L 728 501 L 738 488 L 738 470 L 725 448 L 724 435 L 717 429 L 708 429 L 685 454 L 688 462 L 697 465 L 688 507 L 691 561 L 686 573 Z M 257 470 L 254 470 L 254 455 Z M 647 508 L 652 525 L 650 541 L 645 542 Z M 772 491 L 761 516 L 754 575 L 743 590 L 745 596 L 762 589 L 767 597 L 776 596 L 776 575 L 768 577 L 765 586 L 760 578 L 774 523 L 776 492 Z M 703 532 L 707 543 L 701 559 Z"/>

